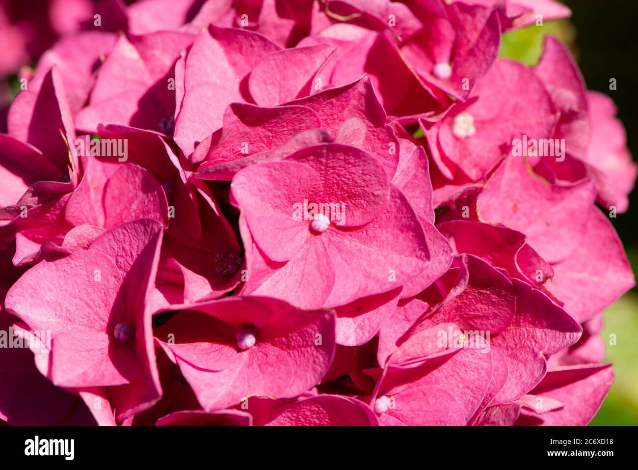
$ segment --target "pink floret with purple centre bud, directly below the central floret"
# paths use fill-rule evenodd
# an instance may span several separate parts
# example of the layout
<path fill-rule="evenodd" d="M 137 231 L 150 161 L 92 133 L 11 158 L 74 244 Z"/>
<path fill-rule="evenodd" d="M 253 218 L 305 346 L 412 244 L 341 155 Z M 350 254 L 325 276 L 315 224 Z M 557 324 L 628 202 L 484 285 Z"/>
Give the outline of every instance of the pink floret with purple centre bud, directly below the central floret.
<path fill-rule="evenodd" d="M 237 404 L 248 395 L 290 398 L 316 384 L 334 356 L 334 313 L 304 312 L 270 298 L 228 298 L 177 314 L 159 340 L 206 410 Z M 205 313 L 204 313 L 205 312 Z M 197 327 L 194 328 L 194 326 Z M 253 345 L 238 347 L 238 332 L 253 331 Z"/>

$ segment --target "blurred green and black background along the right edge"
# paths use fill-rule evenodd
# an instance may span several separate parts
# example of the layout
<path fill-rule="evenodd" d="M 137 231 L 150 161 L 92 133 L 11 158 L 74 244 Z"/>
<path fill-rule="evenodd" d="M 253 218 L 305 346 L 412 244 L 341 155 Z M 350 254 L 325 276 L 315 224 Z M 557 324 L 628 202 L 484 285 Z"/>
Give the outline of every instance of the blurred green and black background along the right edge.
<path fill-rule="evenodd" d="M 503 36 L 501 57 L 533 65 L 542 49 L 543 36 L 558 36 L 574 53 L 589 89 L 605 93 L 618 106 L 618 117 L 627 128 L 627 144 L 638 156 L 638 19 L 637 0 L 572 0 L 568 20 L 545 22 Z M 617 89 L 609 90 L 615 78 Z M 627 213 L 611 219 L 627 256 L 638 268 L 638 191 L 630 196 Z M 607 342 L 605 360 L 613 363 L 616 379 L 590 426 L 638 425 L 638 289 L 634 287 L 604 312 L 602 337 Z M 609 335 L 616 345 L 609 345 Z"/>

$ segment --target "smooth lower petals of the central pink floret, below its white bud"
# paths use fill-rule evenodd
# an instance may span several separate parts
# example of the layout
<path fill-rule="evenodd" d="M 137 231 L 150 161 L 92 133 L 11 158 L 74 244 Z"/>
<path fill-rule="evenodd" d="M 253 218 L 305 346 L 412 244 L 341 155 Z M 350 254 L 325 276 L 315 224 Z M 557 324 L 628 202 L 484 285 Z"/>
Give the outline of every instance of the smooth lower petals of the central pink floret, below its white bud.
<path fill-rule="evenodd" d="M 388 236 L 392 231 L 396 237 Z M 242 231 L 244 243 L 247 236 Z M 258 243 L 254 246 L 246 252 L 249 273 L 242 292 L 275 296 L 303 308 L 336 307 L 391 291 L 422 273 L 429 257 L 417 216 L 394 188 L 375 220 L 361 229 L 329 227 L 320 236 L 312 234 L 288 262 L 271 261 Z M 300 284 L 306 288 L 294 287 Z"/>

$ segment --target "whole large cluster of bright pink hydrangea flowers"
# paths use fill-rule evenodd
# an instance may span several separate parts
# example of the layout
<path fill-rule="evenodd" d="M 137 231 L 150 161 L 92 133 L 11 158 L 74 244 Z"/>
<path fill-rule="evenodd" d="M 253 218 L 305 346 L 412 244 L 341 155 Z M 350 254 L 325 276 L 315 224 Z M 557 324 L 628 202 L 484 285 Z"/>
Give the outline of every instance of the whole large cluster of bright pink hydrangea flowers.
<path fill-rule="evenodd" d="M 498 58 L 567 8 L 59 4 L 0 134 L 0 418 L 591 420 L 636 167 L 558 40 Z"/>

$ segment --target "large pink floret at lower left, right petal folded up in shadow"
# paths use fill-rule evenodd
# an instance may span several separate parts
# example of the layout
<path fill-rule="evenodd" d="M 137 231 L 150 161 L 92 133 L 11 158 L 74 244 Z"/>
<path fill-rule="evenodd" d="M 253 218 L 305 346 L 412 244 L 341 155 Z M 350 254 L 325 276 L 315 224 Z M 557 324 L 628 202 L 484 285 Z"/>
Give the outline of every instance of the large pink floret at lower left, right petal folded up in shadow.
<path fill-rule="evenodd" d="M 147 356 L 154 356 L 152 349 L 149 354 L 145 333 L 150 316 L 144 314 L 144 299 L 154 278 L 159 234 L 161 226 L 151 220 L 121 225 L 98 237 L 87 250 L 40 262 L 8 292 L 7 308 L 30 328 L 51 331 L 55 338 L 50 370 L 54 383 L 126 384 L 140 374 L 140 365 L 152 376 Z M 49 292 L 48 303 L 33 295 L 43 289 Z M 59 304 L 61 298 L 68 306 L 64 312 L 49 305 Z M 89 308 L 87 298 L 91 299 Z M 51 312 L 57 316 L 52 317 Z M 135 329 L 136 339 L 130 345 L 111 335 L 115 324 L 122 321 Z"/>

